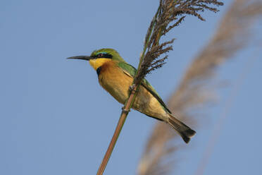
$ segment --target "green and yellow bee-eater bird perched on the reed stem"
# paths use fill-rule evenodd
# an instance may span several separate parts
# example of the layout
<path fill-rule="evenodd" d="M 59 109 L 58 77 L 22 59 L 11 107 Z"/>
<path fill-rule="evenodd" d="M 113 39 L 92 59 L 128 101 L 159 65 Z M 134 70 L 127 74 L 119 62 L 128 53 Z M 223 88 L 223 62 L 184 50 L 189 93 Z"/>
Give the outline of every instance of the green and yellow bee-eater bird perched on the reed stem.
<path fill-rule="evenodd" d="M 118 54 L 115 49 L 96 49 L 90 56 L 71 56 L 68 59 L 82 59 L 97 73 L 99 84 L 118 102 L 125 104 L 137 69 Z M 144 78 L 139 86 L 132 109 L 159 121 L 164 121 L 182 137 L 185 143 L 196 133 L 182 123 L 168 109 L 154 87 Z"/>

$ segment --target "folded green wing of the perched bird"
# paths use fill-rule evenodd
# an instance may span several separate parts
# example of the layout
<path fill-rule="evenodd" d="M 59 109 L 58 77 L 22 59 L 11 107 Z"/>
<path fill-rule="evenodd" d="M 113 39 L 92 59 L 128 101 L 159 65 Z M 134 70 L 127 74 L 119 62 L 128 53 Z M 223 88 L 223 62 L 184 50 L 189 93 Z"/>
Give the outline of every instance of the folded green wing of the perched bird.
<path fill-rule="evenodd" d="M 135 73 L 137 72 L 136 68 L 125 62 L 119 62 L 118 66 L 122 68 L 123 72 L 127 74 L 127 76 L 135 78 Z M 171 114 L 171 111 L 163 102 L 163 99 L 161 99 L 154 87 L 145 78 L 143 78 L 141 85 L 144 86 L 146 90 L 148 90 L 151 93 L 151 95 L 153 95 L 158 100 L 158 102 Z"/>

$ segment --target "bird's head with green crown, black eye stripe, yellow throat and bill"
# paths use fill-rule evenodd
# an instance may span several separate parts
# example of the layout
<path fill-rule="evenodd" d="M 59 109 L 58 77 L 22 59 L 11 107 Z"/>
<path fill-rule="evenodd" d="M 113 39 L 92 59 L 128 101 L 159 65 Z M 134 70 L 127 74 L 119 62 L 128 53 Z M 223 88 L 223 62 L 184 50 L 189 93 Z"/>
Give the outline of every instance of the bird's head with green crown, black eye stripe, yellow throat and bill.
<path fill-rule="evenodd" d="M 107 61 L 120 61 L 125 60 L 116 52 L 115 49 L 98 49 L 94 50 L 90 56 L 72 56 L 68 59 L 82 59 L 89 61 L 89 64 L 96 70 Z"/>

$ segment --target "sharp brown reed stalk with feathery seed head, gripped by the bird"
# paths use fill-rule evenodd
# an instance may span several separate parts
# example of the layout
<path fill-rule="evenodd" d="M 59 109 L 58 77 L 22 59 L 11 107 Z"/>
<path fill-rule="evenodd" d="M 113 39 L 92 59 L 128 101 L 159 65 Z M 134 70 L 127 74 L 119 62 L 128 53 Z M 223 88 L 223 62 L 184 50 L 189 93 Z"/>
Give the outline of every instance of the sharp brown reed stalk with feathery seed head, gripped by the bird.
<path fill-rule="evenodd" d="M 202 18 L 200 15 L 200 12 L 203 12 L 204 10 L 217 12 L 218 9 L 212 7 L 213 5 L 222 6 L 223 3 L 217 0 L 160 1 L 158 11 L 151 21 L 149 29 L 146 33 L 144 49 L 139 59 L 137 73 L 132 86 L 130 87 L 130 96 L 125 102 L 123 111 L 118 121 L 118 125 L 116 126 L 116 130 L 113 134 L 113 138 L 111 139 L 111 143 L 108 146 L 108 150 L 106 151 L 106 155 L 100 164 L 97 174 L 103 174 L 104 169 L 106 169 L 106 164 L 111 157 L 113 147 L 116 145 L 116 141 L 118 140 L 120 131 L 123 128 L 127 114 L 132 107 L 132 103 L 134 102 L 137 90 L 139 90 L 139 84 L 141 83 L 142 79 L 146 76 L 146 74 L 154 71 L 156 68 L 161 68 L 161 66 L 165 64 L 165 60 L 168 58 L 168 56 L 164 56 L 162 59 L 158 59 L 158 57 L 162 54 L 168 53 L 173 49 L 170 44 L 172 44 L 174 40 L 159 43 L 161 37 L 166 35 L 171 29 L 175 28 L 175 26 L 179 25 L 185 18 L 185 15 L 196 16 L 200 20 L 204 20 L 204 18 Z"/>

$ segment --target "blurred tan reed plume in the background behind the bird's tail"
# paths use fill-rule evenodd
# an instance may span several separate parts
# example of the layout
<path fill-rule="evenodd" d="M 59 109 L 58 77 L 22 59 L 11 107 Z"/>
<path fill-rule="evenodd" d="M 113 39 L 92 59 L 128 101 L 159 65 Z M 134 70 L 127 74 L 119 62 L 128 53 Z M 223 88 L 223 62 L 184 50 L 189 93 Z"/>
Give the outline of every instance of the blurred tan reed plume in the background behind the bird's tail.
<path fill-rule="evenodd" d="M 211 78 L 216 68 L 248 44 L 251 40 L 251 26 L 261 14 L 261 0 L 234 1 L 220 22 L 213 39 L 196 56 L 182 78 L 180 86 L 168 101 L 168 107 L 180 116 L 182 121 L 196 127 L 193 112 L 196 116 L 201 109 L 204 111 L 203 107 L 213 102 Z M 173 156 L 185 146 L 180 145 L 177 138 L 178 136 L 165 123 L 158 122 L 146 144 L 137 174 L 169 174 L 174 167 Z"/>

